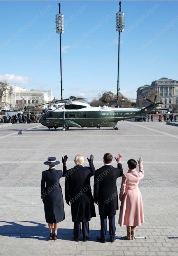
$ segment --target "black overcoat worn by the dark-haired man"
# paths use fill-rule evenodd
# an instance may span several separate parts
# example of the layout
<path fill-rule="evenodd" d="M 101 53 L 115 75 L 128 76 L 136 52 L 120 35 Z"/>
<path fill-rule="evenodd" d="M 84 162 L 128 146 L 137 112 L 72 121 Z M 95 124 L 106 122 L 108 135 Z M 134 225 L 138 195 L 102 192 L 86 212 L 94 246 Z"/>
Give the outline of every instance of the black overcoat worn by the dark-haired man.
<path fill-rule="evenodd" d="M 98 201 L 99 215 L 102 218 L 115 215 L 119 208 L 116 180 L 122 175 L 122 164 L 118 164 L 117 168 L 104 165 L 95 171 L 93 198 Z"/>

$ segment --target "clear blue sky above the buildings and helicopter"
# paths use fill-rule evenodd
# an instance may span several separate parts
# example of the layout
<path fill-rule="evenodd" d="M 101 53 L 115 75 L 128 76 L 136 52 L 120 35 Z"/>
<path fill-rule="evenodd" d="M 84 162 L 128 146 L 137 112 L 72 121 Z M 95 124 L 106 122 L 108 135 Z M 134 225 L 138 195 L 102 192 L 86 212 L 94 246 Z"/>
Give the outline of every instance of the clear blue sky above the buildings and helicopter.
<path fill-rule="evenodd" d="M 0 80 L 52 89 L 60 99 L 59 1 L 0 1 Z M 63 99 L 98 97 L 117 89 L 119 1 L 60 1 Z M 136 90 L 162 77 L 178 80 L 178 2 L 122 1 L 120 89 Z"/>

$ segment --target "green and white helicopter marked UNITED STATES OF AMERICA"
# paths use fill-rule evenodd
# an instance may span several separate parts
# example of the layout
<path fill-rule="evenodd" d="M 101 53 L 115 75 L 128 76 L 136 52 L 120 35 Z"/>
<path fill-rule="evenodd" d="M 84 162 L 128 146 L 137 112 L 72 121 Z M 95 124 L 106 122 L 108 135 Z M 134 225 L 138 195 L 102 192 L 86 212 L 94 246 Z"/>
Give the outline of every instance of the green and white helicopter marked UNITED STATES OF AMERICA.
<path fill-rule="evenodd" d="M 58 108 L 46 110 L 39 121 L 49 129 L 62 127 L 62 131 L 68 130 L 69 127 L 97 127 L 98 129 L 100 127 L 113 127 L 113 129 L 118 130 L 118 127 L 116 127 L 118 121 L 143 117 L 159 104 L 162 104 L 162 102 L 155 102 L 156 97 L 157 94 L 154 102 L 145 97 L 151 104 L 143 109 L 110 108 L 108 106 L 92 107 L 83 99 L 69 99 Z"/>

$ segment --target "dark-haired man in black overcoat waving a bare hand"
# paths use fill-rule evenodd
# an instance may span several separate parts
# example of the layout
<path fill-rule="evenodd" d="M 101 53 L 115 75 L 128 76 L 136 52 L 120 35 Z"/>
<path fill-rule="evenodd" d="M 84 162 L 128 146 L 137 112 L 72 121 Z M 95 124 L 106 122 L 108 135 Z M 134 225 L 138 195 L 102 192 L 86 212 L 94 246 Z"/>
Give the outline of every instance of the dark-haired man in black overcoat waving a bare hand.
<path fill-rule="evenodd" d="M 114 242 L 116 239 L 115 215 L 116 210 L 119 208 L 116 180 L 123 175 L 122 155 L 118 154 L 115 159 L 118 163 L 117 168 L 111 165 L 113 156 L 106 153 L 103 157 L 104 166 L 95 171 L 93 198 L 99 206 L 101 224 L 100 237 L 97 236 L 97 240 L 102 243 L 106 242 L 107 217 L 109 219 L 110 242 Z"/>

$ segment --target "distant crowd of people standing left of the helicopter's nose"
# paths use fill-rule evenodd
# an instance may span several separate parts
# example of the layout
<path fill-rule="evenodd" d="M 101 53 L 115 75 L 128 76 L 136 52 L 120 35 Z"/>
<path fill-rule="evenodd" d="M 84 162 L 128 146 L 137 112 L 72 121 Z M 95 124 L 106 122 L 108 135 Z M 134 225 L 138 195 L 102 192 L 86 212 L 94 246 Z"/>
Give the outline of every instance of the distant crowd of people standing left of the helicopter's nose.
<path fill-rule="evenodd" d="M 0 118 L 1 123 L 12 123 L 12 124 L 30 124 L 30 123 L 37 123 L 38 117 L 35 114 L 20 114 L 12 115 L 12 116 L 6 116 Z"/>

